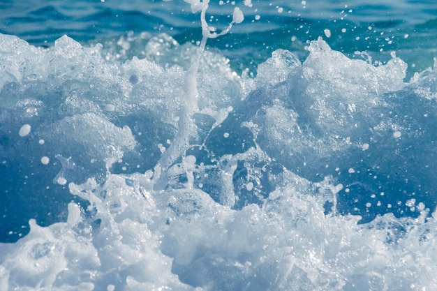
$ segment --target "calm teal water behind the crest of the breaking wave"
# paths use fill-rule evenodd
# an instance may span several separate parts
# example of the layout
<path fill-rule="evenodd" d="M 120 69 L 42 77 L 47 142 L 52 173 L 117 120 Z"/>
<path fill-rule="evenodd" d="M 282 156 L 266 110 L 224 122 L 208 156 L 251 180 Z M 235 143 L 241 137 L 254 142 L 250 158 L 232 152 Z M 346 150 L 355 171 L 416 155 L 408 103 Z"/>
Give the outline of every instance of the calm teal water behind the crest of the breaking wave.
<path fill-rule="evenodd" d="M 233 6 L 211 3 L 210 24 L 223 29 Z M 235 68 L 255 68 L 273 50 L 306 56 L 307 41 L 323 36 L 334 50 L 366 51 L 379 61 L 395 51 L 409 76 L 433 64 L 437 1 L 253 1 L 236 3 L 245 21 L 208 45 Z M 50 46 L 64 34 L 81 43 L 126 36 L 128 31 L 168 33 L 179 43 L 200 40 L 199 15 L 184 1 L 10 1 L 0 3 L 0 32 L 32 45 Z M 325 35 L 329 29 L 330 38 Z M 291 41 L 293 40 L 293 41 Z"/>

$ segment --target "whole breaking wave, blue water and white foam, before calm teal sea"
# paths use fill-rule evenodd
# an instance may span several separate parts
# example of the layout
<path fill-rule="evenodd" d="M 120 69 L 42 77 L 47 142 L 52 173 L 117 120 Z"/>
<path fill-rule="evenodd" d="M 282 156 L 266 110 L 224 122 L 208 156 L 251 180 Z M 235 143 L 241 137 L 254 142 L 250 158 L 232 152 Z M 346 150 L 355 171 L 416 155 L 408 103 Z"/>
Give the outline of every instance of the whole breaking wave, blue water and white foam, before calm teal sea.
<path fill-rule="evenodd" d="M 277 50 L 249 78 L 205 52 L 184 111 L 197 50 L 170 36 L 170 66 L 67 36 L 0 40 L 2 200 L 46 207 L 28 234 L 1 227 L 22 238 L 0 244 L 0 290 L 437 284 L 436 67 L 406 82 L 401 59 L 376 66 L 319 39 L 303 64 Z M 176 144 L 181 120 L 192 131 Z"/>

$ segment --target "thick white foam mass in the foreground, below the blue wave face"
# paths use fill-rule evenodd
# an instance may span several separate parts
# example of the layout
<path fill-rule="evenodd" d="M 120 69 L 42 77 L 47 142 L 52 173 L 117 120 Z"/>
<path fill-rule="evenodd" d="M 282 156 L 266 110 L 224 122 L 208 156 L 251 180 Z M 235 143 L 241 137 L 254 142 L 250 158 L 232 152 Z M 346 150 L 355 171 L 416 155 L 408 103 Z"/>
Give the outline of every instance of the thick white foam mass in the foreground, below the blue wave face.
<path fill-rule="evenodd" d="M 154 193 L 140 174 L 110 175 L 103 186 L 90 180 L 70 187 L 91 202 L 96 215 L 84 218 L 70 204 L 67 223 L 39 227 L 31 221 L 27 237 L 7 252 L 2 244 L 0 276 L 8 285 L 408 290 L 411 284 L 432 289 L 436 283 L 435 234 L 429 232 L 435 222 L 425 227 L 424 216 L 387 215 L 357 225 L 358 217 L 325 216 L 323 199 L 299 193 L 295 184 L 274 191 L 264 206 L 241 211 L 198 190 Z M 408 232 L 399 233 L 407 225 Z"/>

